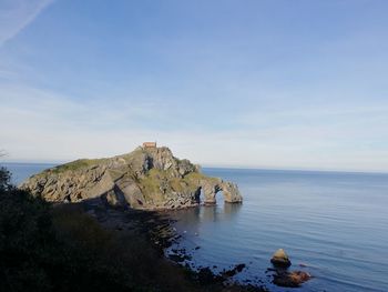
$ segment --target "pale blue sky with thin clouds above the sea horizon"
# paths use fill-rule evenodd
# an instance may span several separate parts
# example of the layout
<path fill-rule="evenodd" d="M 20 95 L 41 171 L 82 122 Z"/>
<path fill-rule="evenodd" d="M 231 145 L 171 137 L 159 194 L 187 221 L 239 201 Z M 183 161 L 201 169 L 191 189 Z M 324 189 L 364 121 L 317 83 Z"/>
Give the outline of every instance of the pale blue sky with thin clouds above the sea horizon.
<path fill-rule="evenodd" d="M 388 1 L 0 0 L 2 161 L 143 141 L 212 167 L 388 172 Z"/>

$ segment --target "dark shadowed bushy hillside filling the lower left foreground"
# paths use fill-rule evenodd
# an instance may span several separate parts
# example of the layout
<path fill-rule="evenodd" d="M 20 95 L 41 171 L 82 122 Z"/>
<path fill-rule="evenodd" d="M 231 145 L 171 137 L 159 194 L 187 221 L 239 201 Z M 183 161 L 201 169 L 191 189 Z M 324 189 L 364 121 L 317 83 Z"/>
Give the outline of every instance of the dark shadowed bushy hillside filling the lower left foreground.
<path fill-rule="evenodd" d="M 1 170 L 0 291 L 174 291 L 187 286 L 142 236 L 118 236 L 72 205 L 52 208 Z M 183 282 L 180 282 L 183 281 Z"/>

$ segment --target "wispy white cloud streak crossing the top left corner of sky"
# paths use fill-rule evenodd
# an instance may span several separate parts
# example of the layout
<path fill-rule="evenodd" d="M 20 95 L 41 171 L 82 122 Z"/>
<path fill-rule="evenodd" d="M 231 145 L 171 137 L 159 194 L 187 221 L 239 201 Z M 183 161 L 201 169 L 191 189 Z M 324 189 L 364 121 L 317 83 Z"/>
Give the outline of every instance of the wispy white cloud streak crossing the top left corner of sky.
<path fill-rule="evenodd" d="M 0 1 L 0 47 L 31 23 L 53 0 Z"/>

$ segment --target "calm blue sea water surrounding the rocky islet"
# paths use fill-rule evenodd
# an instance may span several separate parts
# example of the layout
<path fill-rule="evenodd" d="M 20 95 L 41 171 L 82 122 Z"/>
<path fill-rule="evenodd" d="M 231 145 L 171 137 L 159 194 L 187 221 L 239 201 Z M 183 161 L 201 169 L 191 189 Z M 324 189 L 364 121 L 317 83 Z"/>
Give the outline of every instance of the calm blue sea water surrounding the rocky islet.
<path fill-rule="evenodd" d="M 19 183 L 50 164 L 7 164 Z M 237 263 L 238 281 L 272 291 L 388 291 L 388 174 L 204 169 L 239 185 L 244 203 L 171 212 L 192 266 Z M 200 249 L 196 249 L 200 246 Z M 270 284 L 272 253 L 315 278 L 300 289 Z M 307 266 L 299 266 L 306 264 Z"/>

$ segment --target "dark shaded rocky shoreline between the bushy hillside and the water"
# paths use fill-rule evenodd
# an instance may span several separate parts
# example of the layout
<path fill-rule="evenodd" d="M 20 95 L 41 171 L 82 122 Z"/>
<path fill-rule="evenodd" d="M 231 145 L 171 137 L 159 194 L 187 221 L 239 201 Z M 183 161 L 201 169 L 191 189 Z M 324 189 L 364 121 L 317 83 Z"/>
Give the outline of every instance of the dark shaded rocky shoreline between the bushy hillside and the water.
<path fill-rule="evenodd" d="M 70 204 L 67 204 L 70 205 Z M 75 208 L 75 207 L 74 207 Z M 232 278 L 245 269 L 245 264 L 236 264 L 228 270 L 216 274 L 210 266 L 193 270 L 188 265 L 181 265 L 183 259 L 188 259 L 184 250 L 166 255 L 165 249 L 180 240 L 181 235 L 173 228 L 174 221 L 167 211 L 141 211 L 129 208 L 106 208 L 96 200 L 78 204 L 85 213 L 108 230 L 122 234 L 129 233 L 136 236 L 145 236 L 160 256 L 164 256 L 170 264 L 177 265 L 184 271 L 188 281 L 198 286 L 201 291 L 268 291 L 264 285 L 241 284 L 232 281 Z M 204 289 L 204 290 L 202 290 Z"/>

